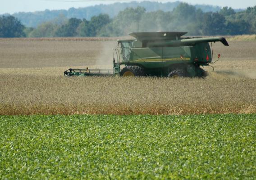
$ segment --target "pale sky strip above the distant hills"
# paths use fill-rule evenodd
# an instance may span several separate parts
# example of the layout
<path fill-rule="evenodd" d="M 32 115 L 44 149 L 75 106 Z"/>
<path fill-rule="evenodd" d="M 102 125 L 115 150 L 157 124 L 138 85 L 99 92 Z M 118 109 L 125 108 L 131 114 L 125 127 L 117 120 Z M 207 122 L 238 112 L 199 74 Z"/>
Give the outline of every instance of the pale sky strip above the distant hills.
<path fill-rule="evenodd" d="M 112 4 L 114 2 L 128 2 L 135 0 L 0 0 L 0 14 L 14 14 L 18 12 L 35 12 L 45 9 L 69 9 L 87 7 L 96 4 Z M 137 0 L 142 1 L 142 0 Z M 177 0 L 155 0 L 159 2 L 174 2 Z M 256 6 L 256 0 L 181 0 L 189 4 L 210 4 L 233 9 L 246 9 Z"/>

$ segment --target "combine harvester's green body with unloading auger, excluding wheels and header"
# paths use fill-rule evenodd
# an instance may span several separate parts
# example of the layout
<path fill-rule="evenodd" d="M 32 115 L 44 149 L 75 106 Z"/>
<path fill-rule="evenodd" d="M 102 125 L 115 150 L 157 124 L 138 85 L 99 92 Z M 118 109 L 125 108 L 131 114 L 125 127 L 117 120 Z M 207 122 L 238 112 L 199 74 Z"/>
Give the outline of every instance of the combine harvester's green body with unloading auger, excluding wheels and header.
<path fill-rule="evenodd" d="M 121 64 L 141 66 L 148 74 L 155 72 L 154 75 L 167 76 L 169 69 L 175 65 L 208 66 L 212 62 L 209 42 L 221 41 L 228 45 L 222 37 L 180 37 L 184 34 L 185 32 L 131 33 L 137 39 L 118 40 Z"/>

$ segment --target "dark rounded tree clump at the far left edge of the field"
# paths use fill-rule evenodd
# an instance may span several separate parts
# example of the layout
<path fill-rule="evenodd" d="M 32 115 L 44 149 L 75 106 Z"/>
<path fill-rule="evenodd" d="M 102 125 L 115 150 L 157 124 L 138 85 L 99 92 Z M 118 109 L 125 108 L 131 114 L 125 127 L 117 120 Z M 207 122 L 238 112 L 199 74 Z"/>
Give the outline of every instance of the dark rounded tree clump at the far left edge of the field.
<path fill-rule="evenodd" d="M 25 27 L 13 16 L 0 17 L 0 37 L 24 37 Z"/>

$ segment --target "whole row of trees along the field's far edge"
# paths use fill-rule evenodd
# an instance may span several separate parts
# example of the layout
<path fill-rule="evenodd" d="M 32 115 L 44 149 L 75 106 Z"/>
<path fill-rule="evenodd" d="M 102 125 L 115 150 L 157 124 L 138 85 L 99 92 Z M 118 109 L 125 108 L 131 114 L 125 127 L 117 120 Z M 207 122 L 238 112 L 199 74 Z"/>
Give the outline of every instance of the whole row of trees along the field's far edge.
<path fill-rule="evenodd" d="M 126 8 L 114 18 L 108 14 L 90 20 L 60 15 L 36 28 L 24 27 L 12 16 L 0 17 L 0 37 L 127 36 L 136 31 L 187 31 L 194 36 L 256 34 L 256 6 L 241 12 L 228 7 L 203 12 L 187 3 L 167 12 Z"/>

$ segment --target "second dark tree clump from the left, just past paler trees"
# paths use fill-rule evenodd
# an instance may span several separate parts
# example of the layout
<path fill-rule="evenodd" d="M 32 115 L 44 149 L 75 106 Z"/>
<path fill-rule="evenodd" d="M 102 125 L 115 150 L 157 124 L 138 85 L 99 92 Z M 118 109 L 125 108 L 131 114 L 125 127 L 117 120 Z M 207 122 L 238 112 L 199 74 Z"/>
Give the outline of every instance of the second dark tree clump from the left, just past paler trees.
<path fill-rule="evenodd" d="M 58 37 L 73 37 L 73 36 L 78 36 L 77 34 L 77 28 L 82 23 L 81 19 L 77 18 L 70 18 L 68 23 L 60 26 L 56 32 L 55 36 Z"/>

